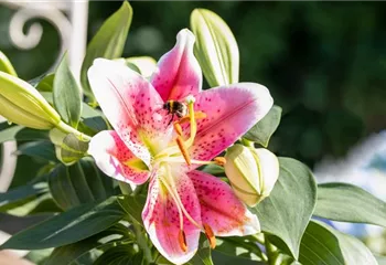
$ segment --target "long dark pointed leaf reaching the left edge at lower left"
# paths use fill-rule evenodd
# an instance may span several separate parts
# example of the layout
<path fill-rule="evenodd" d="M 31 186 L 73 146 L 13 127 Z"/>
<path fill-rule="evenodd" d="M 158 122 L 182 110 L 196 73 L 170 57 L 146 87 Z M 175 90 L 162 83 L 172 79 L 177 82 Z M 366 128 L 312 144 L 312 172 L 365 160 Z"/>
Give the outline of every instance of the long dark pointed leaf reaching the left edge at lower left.
<path fill-rule="evenodd" d="M 115 197 L 61 213 L 9 239 L 1 248 L 41 250 L 72 244 L 95 235 L 122 219 Z"/>

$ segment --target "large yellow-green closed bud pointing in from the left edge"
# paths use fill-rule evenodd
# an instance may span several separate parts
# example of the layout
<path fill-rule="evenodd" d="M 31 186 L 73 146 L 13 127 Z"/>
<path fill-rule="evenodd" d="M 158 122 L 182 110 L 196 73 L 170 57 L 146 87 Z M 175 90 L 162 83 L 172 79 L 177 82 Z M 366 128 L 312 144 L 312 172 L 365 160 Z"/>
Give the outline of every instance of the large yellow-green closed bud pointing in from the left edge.
<path fill-rule="evenodd" d="M 29 83 L 0 72 L 0 115 L 34 129 L 51 129 L 61 117 Z"/>

